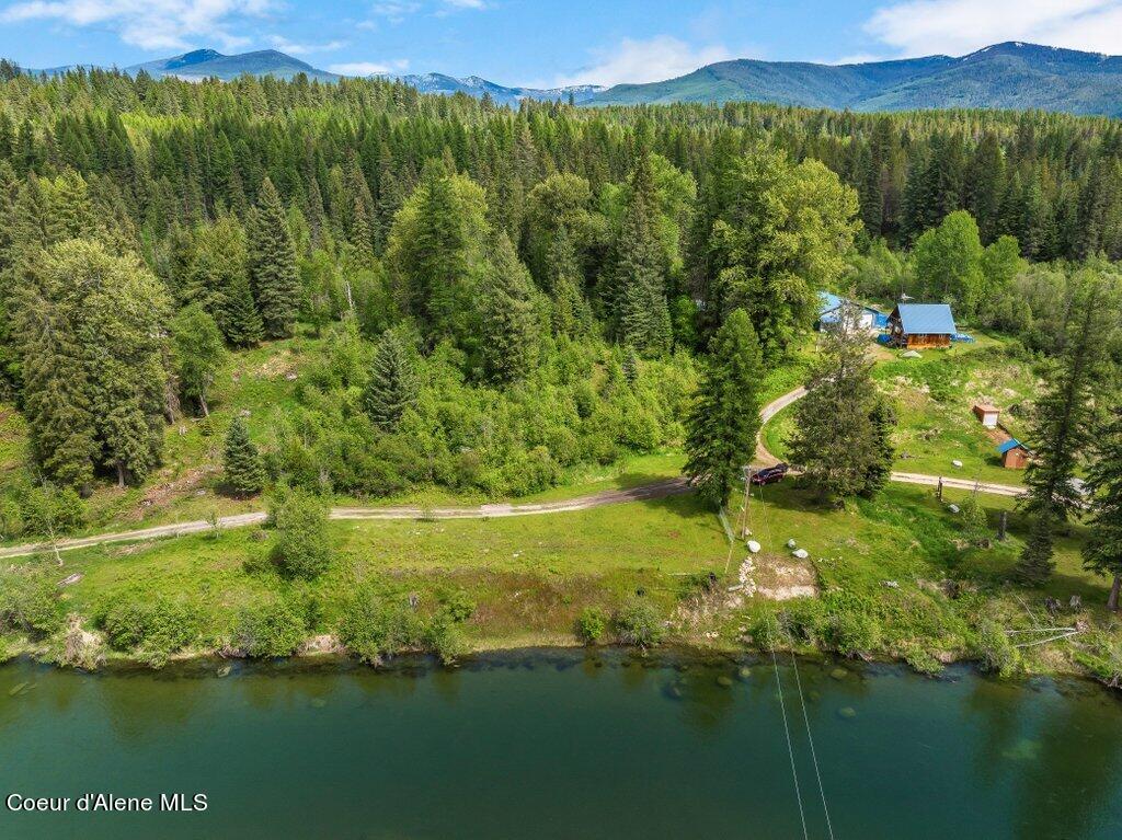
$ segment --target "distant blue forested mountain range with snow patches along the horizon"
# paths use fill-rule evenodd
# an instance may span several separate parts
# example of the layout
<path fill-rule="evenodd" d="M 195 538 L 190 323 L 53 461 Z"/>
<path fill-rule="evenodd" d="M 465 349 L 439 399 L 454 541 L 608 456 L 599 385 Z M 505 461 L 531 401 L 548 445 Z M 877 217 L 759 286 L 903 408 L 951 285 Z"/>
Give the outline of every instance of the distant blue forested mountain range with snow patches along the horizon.
<path fill-rule="evenodd" d="M 54 67 L 59 73 L 73 67 Z M 223 55 L 196 49 L 172 58 L 126 67 L 153 76 L 186 80 L 236 79 L 242 74 L 331 82 L 334 73 L 275 49 Z M 671 102 L 757 101 L 855 111 L 925 108 L 1043 109 L 1122 117 L 1122 57 L 1036 44 L 1008 41 L 960 57 L 946 55 L 862 64 L 765 62 L 742 58 L 700 67 L 664 82 L 569 87 L 509 87 L 479 76 L 440 73 L 384 74 L 423 93 L 489 95 L 498 104 L 523 99 L 557 101 L 570 96 L 583 105 L 664 104 Z"/>

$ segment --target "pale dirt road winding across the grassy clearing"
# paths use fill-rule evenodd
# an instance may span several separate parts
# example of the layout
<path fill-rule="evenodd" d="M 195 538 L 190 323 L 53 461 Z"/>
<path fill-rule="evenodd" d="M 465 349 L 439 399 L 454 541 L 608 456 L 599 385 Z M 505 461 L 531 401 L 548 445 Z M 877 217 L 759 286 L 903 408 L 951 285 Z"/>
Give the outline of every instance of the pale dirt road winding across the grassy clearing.
<path fill-rule="evenodd" d="M 792 403 L 807 396 L 806 388 L 795 388 L 784 394 L 778 399 L 773 399 L 760 410 L 760 418 L 767 423 L 772 417 L 782 412 Z M 779 463 L 767 447 L 763 444 L 763 436 L 756 437 L 756 463 L 770 467 Z M 927 476 L 918 472 L 893 472 L 892 480 L 903 484 L 922 484 L 926 487 L 937 487 L 938 476 Z M 977 490 L 978 492 L 993 493 L 995 496 L 1021 496 L 1024 488 L 1011 484 L 992 484 L 987 482 L 975 482 L 965 479 L 944 478 L 942 486 L 959 490 Z M 627 501 L 642 501 L 644 499 L 662 499 L 668 496 L 677 496 L 689 492 L 689 482 L 683 478 L 662 479 L 652 481 L 649 484 L 627 488 L 624 490 L 604 490 L 589 496 L 580 496 L 574 499 L 562 501 L 541 501 L 525 505 L 479 505 L 477 507 L 340 507 L 331 508 L 329 516 L 332 519 L 488 519 L 511 516 L 541 516 L 544 514 L 561 514 L 573 510 L 588 510 L 590 508 L 603 507 L 605 505 L 618 505 Z M 249 525 L 260 525 L 265 521 L 264 510 L 255 510 L 248 514 L 236 514 L 223 516 L 218 519 L 220 529 L 243 528 Z M 112 534 L 95 534 L 88 537 L 75 537 L 72 539 L 59 539 L 54 545 L 50 543 L 26 543 L 24 545 L 12 545 L 0 548 L 0 560 L 7 557 L 26 557 L 30 554 L 44 552 L 67 552 L 76 548 L 89 548 L 94 545 L 105 543 L 135 543 L 146 539 L 159 539 L 162 537 L 177 537 L 187 534 L 200 534 L 210 530 L 214 524 L 205 519 L 195 519 L 187 523 L 176 523 L 175 525 L 156 525 L 150 528 L 139 528 L 137 530 L 121 530 Z"/>

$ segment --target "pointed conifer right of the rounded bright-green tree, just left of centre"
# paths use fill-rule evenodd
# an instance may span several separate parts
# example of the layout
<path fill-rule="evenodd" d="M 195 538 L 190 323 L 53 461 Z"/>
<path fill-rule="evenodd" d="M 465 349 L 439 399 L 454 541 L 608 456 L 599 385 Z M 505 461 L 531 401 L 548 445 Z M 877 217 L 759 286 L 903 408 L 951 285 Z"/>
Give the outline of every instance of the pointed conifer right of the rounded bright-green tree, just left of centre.
<path fill-rule="evenodd" d="M 505 231 L 495 244 L 481 294 L 484 370 L 494 382 L 524 379 L 537 361 L 534 285 Z"/>

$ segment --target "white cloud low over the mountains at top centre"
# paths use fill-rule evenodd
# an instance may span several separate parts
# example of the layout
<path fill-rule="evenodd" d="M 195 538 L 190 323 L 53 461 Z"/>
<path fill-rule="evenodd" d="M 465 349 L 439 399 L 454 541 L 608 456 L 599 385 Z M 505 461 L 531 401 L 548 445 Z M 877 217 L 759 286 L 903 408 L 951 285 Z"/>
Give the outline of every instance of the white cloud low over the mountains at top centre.
<path fill-rule="evenodd" d="M 595 50 L 591 65 L 559 76 L 551 84 L 561 87 L 570 84 L 610 86 L 624 82 L 661 82 L 732 57 L 728 49 L 719 44 L 693 47 L 669 35 L 649 40 L 624 38 L 611 49 Z"/>

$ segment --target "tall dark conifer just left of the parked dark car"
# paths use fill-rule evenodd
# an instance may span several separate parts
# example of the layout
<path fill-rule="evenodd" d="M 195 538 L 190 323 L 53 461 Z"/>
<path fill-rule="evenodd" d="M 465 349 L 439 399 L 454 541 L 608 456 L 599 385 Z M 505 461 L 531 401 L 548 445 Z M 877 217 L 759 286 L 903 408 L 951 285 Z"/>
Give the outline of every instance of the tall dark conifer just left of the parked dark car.
<path fill-rule="evenodd" d="M 736 310 L 714 336 L 686 422 L 686 474 L 712 505 L 728 502 L 755 452 L 762 376 L 755 330 Z"/>

